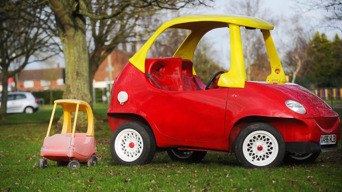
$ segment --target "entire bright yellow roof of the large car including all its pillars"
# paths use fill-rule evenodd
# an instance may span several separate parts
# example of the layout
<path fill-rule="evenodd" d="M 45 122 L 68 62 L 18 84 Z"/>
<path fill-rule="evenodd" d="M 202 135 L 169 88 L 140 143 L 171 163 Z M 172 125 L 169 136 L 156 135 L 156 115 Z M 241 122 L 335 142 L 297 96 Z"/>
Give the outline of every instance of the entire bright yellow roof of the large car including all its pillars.
<path fill-rule="evenodd" d="M 210 30 L 229 26 L 231 40 L 231 68 L 223 73 L 218 85 L 222 87 L 243 88 L 245 86 L 246 70 L 242 52 L 240 26 L 258 28 L 262 30 L 269 60 L 271 63 L 271 74 L 267 77 L 268 82 L 286 83 L 285 73 L 271 37 L 269 30 L 273 25 L 265 20 L 241 16 L 241 15 L 187 15 L 178 17 L 161 25 L 157 31 L 146 41 L 146 43 L 129 59 L 130 63 L 145 73 L 145 59 L 147 52 L 157 37 L 167 28 L 188 29 L 190 33 L 183 43 L 178 47 L 173 57 L 181 57 L 193 61 L 194 51 L 199 40 Z M 196 72 L 193 68 L 193 74 Z"/>

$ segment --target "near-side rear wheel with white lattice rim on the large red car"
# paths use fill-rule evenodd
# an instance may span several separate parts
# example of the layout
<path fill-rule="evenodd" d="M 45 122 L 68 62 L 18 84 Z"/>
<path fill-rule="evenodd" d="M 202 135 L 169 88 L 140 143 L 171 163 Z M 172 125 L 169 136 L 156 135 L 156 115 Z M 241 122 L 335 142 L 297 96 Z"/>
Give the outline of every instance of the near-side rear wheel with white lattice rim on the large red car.
<path fill-rule="evenodd" d="M 156 153 L 156 140 L 145 123 L 122 123 L 111 135 L 110 152 L 120 165 L 147 164 Z"/>

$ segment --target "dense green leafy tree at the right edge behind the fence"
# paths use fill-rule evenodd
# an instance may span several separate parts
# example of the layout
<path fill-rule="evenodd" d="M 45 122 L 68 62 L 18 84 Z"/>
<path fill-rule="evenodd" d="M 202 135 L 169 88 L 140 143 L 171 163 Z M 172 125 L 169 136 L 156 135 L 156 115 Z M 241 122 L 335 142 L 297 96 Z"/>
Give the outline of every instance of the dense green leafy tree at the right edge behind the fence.
<path fill-rule="evenodd" d="M 308 76 L 318 78 L 321 87 L 342 86 L 342 41 L 338 35 L 329 41 L 325 34 L 315 33 L 309 43 Z"/>

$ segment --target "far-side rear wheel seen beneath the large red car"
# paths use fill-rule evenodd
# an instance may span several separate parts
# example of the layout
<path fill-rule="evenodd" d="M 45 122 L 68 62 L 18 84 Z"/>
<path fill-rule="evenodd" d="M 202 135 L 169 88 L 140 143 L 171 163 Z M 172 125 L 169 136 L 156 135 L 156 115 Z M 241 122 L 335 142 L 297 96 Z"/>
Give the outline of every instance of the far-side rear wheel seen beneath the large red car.
<path fill-rule="evenodd" d="M 181 162 L 200 162 L 207 154 L 207 151 L 189 151 L 189 150 L 168 150 L 170 158 L 173 161 Z"/>

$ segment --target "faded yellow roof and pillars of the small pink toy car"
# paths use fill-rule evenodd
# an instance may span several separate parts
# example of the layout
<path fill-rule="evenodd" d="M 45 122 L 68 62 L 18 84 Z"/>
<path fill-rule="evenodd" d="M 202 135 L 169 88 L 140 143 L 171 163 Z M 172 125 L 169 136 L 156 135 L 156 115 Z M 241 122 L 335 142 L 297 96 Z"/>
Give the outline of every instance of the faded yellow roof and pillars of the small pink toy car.
<path fill-rule="evenodd" d="M 88 115 L 88 129 L 87 129 L 87 136 L 94 136 L 94 121 L 93 121 L 93 112 L 91 110 L 90 105 L 87 102 L 77 100 L 77 99 L 59 99 L 54 101 L 54 106 L 52 110 L 52 115 L 50 119 L 50 124 L 47 132 L 47 137 L 49 136 L 53 116 L 55 113 L 56 105 L 60 104 L 63 108 L 63 128 L 61 134 L 66 133 L 73 133 L 71 137 L 74 137 L 75 128 L 76 128 L 76 121 L 78 111 L 86 111 Z M 71 113 L 75 111 L 75 119 L 73 130 L 71 131 Z"/>

